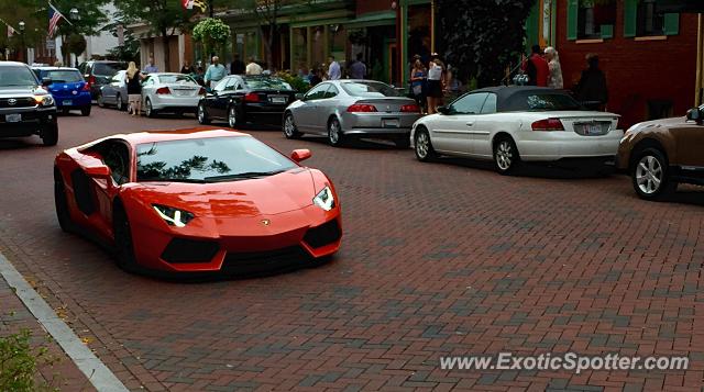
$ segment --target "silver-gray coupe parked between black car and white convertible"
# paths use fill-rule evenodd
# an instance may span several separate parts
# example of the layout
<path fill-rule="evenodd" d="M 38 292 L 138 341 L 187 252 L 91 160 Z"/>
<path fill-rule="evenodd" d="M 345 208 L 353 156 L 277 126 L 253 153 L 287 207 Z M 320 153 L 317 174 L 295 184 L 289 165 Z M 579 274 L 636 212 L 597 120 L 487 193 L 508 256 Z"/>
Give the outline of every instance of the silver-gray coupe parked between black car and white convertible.
<path fill-rule="evenodd" d="M 284 135 L 324 135 L 332 146 L 350 138 L 386 138 L 408 147 L 410 128 L 420 119 L 416 101 L 373 80 L 319 83 L 284 112 Z"/>

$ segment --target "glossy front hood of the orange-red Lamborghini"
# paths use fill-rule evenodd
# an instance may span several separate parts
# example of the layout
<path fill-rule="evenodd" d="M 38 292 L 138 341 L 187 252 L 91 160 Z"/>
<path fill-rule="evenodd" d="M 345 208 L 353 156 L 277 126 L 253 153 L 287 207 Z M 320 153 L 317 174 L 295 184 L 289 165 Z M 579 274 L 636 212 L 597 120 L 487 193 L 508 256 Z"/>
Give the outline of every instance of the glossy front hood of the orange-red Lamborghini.
<path fill-rule="evenodd" d="M 183 209 L 204 217 L 275 215 L 312 204 L 310 170 L 292 169 L 275 176 L 212 183 L 140 182 L 133 191 L 147 204 Z"/>

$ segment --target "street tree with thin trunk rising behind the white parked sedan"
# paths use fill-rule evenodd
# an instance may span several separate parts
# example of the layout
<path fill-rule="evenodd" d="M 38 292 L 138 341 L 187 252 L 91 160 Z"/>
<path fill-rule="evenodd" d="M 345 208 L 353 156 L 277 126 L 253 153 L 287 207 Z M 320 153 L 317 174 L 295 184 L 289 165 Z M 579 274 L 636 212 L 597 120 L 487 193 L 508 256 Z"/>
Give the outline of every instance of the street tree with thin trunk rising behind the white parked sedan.
<path fill-rule="evenodd" d="M 118 19 L 127 23 L 144 23 L 150 33 L 162 37 L 164 42 L 164 61 L 172 69 L 168 37 L 177 31 L 190 31 L 190 16 L 195 11 L 184 10 L 180 1 L 175 0 L 114 0 Z"/>

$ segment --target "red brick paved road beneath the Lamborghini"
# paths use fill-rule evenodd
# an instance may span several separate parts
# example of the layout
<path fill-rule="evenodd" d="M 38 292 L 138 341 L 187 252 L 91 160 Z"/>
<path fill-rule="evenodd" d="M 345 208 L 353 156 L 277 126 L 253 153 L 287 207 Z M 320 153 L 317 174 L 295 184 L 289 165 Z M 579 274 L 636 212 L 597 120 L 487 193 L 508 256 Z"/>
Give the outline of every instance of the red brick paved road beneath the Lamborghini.
<path fill-rule="evenodd" d="M 195 120 L 96 109 L 59 147 Z M 625 177 L 465 161 L 382 146 L 311 148 L 336 181 L 345 237 L 321 268 L 199 284 L 131 276 L 54 216 L 55 149 L 0 142 L 0 250 L 64 306 L 131 389 L 660 390 L 704 377 L 704 192 L 637 200 Z M 579 176 L 578 176 L 579 177 Z M 87 331 L 87 332 L 84 332 Z M 444 355 L 689 355 L 684 371 L 444 371 Z"/>

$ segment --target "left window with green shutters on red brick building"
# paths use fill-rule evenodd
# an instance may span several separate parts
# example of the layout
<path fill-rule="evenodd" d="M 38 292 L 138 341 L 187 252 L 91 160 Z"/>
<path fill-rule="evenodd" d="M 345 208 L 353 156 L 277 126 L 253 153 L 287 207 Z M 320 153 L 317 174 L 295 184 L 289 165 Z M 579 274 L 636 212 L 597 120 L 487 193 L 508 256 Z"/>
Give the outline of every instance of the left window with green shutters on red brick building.
<path fill-rule="evenodd" d="M 604 38 L 610 36 L 616 21 L 615 0 L 579 0 L 576 12 L 579 40 Z"/>

